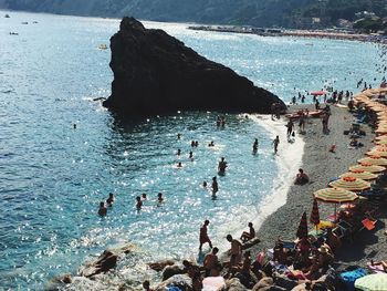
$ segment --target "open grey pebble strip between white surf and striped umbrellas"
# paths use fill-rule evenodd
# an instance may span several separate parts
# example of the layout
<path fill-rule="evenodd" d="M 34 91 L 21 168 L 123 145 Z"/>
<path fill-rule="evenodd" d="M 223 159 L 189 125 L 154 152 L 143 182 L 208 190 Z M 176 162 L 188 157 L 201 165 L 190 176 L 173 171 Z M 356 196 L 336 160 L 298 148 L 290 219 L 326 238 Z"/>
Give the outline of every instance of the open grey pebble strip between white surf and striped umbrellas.
<path fill-rule="evenodd" d="M 311 108 L 311 105 L 308 107 Z M 294 108 L 300 108 L 300 106 L 291 106 L 291 112 Z M 362 129 L 366 132 L 366 136 L 360 142 L 364 146 L 358 149 L 348 148 L 349 138 L 343 136 L 343 132 L 349 128 L 353 116 L 347 108 L 335 106 L 331 106 L 331 133 L 328 135 L 322 133 L 320 118 L 308 118 L 306 123 L 306 133 L 303 136 L 305 150 L 302 156 L 302 168 L 310 176 L 311 181 L 303 186 L 292 185 L 290 187 L 286 194 L 286 204 L 270 215 L 257 231 L 261 242 L 257 246 L 255 251 L 272 248 L 279 237 L 293 241 L 302 214 L 306 211 L 307 217 L 311 214 L 313 193 L 326 188 L 332 178 L 348 172 L 348 167 L 356 165 L 357 159 L 364 157 L 368 148 L 372 147 L 374 134 L 367 125 L 363 125 Z M 300 135 L 296 136 L 300 138 Z M 328 152 L 333 144 L 337 147 L 336 153 Z M 295 174 L 293 173 L 293 178 Z M 333 205 L 330 204 L 318 202 L 318 208 L 322 220 L 325 220 L 334 210 Z"/>

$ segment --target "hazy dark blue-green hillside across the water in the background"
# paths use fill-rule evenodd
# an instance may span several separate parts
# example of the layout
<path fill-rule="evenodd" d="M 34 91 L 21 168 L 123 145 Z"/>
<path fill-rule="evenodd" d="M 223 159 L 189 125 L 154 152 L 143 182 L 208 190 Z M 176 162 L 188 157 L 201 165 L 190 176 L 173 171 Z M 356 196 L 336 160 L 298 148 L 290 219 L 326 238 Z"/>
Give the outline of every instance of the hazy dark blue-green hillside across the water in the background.
<path fill-rule="evenodd" d="M 0 0 L 0 9 L 255 27 L 330 27 L 372 11 L 387 17 L 387 0 Z M 318 22 L 312 23 L 318 18 Z"/>

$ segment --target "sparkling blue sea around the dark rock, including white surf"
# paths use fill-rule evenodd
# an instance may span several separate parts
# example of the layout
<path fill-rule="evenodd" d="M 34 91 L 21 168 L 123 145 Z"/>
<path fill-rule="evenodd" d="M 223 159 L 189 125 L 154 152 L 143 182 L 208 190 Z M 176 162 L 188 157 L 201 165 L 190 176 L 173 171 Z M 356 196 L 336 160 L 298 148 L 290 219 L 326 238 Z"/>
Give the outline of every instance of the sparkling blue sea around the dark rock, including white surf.
<path fill-rule="evenodd" d="M 286 103 L 299 92 L 310 103 L 307 92 L 324 86 L 356 93 L 362 77 L 377 86 L 384 76 L 381 49 L 373 43 L 144 24 Z M 205 219 L 213 245 L 224 251 L 226 235 L 239 236 L 249 221 L 258 228 L 286 201 L 303 141 L 287 144 L 283 122 L 226 114 L 220 128 L 217 112 L 123 122 L 96 101 L 109 95 L 113 81 L 111 52 L 98 46 L 108 46 L 118 28 L 118 19 L 0 11 L 0 290 L 43 290 L 64 273 L 74 278 L 66 290 L 117 290 L 122 283 L 136 290 L 145 279 L 159 280 L 148 262 L 202 259 Z M 278 155 L 275 135 L 282 141 Z M 208 147 L 211 141 L 215 147 Z M 221 157 L 228 162 L 223 176 L 217 173 Z M 101 218 L 100 201 L 109 193 L 116 200 Z M 135 198 L 143 193 L 147 200 L 137 211 Z M 113 272 L 96 280 L 76 277 L 105 249 L 123 246 L 133 251 Z"/>

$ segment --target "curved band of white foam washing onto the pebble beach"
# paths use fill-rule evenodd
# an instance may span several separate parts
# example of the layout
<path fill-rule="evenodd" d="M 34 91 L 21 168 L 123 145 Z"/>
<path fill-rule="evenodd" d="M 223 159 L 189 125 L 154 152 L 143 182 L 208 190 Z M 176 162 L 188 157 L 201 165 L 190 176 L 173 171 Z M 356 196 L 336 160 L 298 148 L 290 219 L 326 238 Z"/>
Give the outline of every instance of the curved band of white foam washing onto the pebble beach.
<path fill-rule="evenodd" d="M 249 117 L 272 133 L 273 139 L 276 135 L 280 137 L 276 155 L 279 173 L 274 178 L 272 193 L 260 204 L 257 219 L 253 221 L 258 229 L 271 214 L 286 204 L 290 187 L 302 166 L 305 143 L 301 136 L 295 136 L 294 143 L 287 143 L 285 122 L 282 119 L 273 121 L 270 115 L 250 115 Z"/>

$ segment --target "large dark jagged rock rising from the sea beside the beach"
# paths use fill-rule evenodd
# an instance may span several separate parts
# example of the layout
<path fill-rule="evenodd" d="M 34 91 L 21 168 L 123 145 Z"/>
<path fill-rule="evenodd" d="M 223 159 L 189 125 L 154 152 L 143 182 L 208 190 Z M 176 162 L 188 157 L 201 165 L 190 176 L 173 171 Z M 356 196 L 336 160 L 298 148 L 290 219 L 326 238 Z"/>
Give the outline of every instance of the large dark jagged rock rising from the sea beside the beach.
<path fill-rule="evenodd" d="M 181 111 L 269 113 L 272 93 L 207 60 L 163 30 L 124 18 L 111 39 L 112 95 L 104 105 L 124 115 Z"/>

